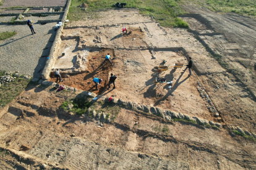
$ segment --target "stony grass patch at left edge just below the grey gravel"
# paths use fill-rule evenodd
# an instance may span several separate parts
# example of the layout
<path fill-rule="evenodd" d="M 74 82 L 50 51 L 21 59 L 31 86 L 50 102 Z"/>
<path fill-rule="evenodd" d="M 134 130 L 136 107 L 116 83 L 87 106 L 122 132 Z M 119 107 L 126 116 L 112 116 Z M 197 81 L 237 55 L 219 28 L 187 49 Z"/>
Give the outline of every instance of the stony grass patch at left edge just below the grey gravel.
<path fill-rule="evenodd" d="M 4 75 L 4 71 L 0 71 L 0 76 L 2 75 Z M 25 90 L 28 83 L 28 79 L 16 78 L 15 81 L 2 84 L 0 87 L 0 108 L 20 95 L 20 93 Z"/>

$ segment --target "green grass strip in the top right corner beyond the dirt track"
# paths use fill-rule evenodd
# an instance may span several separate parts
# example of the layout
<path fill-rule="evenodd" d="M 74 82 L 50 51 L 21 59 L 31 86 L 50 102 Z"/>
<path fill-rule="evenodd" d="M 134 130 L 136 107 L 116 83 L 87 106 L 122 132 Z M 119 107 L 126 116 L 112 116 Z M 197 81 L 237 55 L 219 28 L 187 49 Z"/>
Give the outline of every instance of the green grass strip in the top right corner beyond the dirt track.
<path fill-rule="evenodd" d="M 256 16 L 255 0 L 198 0 L 198 2 L 212 11 Z"/>

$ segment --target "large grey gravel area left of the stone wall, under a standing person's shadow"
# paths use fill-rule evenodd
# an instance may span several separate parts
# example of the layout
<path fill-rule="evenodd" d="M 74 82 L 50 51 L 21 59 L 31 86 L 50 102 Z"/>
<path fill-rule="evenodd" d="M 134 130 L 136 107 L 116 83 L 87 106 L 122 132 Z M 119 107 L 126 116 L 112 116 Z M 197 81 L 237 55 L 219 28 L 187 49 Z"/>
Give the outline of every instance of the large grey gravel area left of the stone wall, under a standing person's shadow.
<path fill-rule="evenodd" d="M 0 70 L 19 71 L 39 78 L 56 36 L 56 23 L 34 24 L 36 34 L 32 35 L 27 25 L 0 25 L 0 32 L 17 31 L 17 34 L 0 41 Z M 46 49 L 48 48 L 48 49 Z"/>

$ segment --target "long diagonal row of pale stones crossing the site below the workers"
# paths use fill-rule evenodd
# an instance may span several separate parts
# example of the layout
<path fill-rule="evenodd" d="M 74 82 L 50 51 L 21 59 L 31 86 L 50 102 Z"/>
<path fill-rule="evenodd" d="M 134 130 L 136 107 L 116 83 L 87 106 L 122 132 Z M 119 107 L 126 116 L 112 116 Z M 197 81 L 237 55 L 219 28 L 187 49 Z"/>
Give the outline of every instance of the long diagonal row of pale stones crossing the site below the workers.
<path fill-rule="evenodd" d="M 36 81 L 38 81 L 38 78 L 33 78 L 32 81 L 36 82 Z M 38 81 L 38 83 L 40 83 L 42 85 L 45 85 L 45 86 L 54 86 L 54 87 L 59 86 L 58 83 L 54 83 L 54 82 L 51 82 L 51 81 L 46 81 L 46 80 L 43 80 L 43 79 L 40 79 Z M 66 85 L 62 85 L 62 86 L 67 91 L 80 91 L 79 89 L 74 88 L 74 87 L 69 87 L 69 86 L 66 86 Z M 96 100 L 100 99 L 100 100 L 103 100 L 104 102 L 109 102 L 109 100 L 108 100 L 109 97 L 106 97 L 105 95 L 96 95 L 93 92 L 87 92 L 87 91 L 83 91 L 83 92 L 84 92 L 84 95 L 86 95 L 86 96 L 97 97 Z M 158 108 L 158 107 L 150 107 L 148 105 L 139 105 L 138 103 L 130 102 L 130 101 L 124 101 L 122 99 L 113 99 L 111 102 L 116 103 L 118 105 L 124 105 L 124 106 L 126 106 L 127 108 L 130 108 L 130 109 L 140 110 L 140 111 L 143 111 L 145 113 L 151 113 L 151 114 L 156 115 L 156 116 L 161 116 L 163 119 L 166 119 L 168 121 L 170 121 L 171 119 L 175 119 L 175 118 L 177 118 L 177 119 L 187 119 L 189 121 L 197 121 L 198 124 L 202 124 L 202 125 L 210 124 L 211 126 L 216 126 L 216 127 L 219 127 L 219 128 L 223 127 L 223 124 L 221 124 L 221 123 L 208 121 L 207 119 L 192 117 L 192 116 L 185 115 L 185 114 L 182 114 L 182 113 L 176 113 L 175 111 L 163 110 L 163 109 Z M 103 113 L 98 113 L 97 114 L 96 110 L 92 110 L 91 108 L 88 108 L 87 113 L 86 113 L 85 116 L 88 116 L 90 111 L 92 111 L 93 118 L 95 118 L 99 122 L 100 121 L 101 122 L 105 121 L 105 123 L 110 123 L 111 119 L 110 118 L 106 119 L 106 114 L 105 113 L 104 114 Z M 256 139 L 256 134 L 254 132 L 249 132 L 249 131 L 246 131 L 245 129 L 242 129 L 241 127 L 236 127 L 236 126 L 228 126 L 228 128 L 231 129 L 231 130 L 236 130 L 239 133 L 241 133 L 242 135 L 246 134 L 247 136 L 253 136 Z"/>

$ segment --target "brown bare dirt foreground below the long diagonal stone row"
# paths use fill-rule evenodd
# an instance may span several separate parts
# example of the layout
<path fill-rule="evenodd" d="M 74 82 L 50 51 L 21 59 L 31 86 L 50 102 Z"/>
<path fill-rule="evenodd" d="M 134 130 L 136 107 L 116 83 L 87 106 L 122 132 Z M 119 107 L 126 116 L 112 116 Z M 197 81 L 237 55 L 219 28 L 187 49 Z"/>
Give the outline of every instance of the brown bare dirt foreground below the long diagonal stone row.
<path fill-rule="evenodd" d="M 59 109 L 56 88 L 29 86 L 1 111 L 1 168 L 255 169 L 255 144 L 213 130 L 121 108 L 111 124 Z M 137 123 L 135 123 L 137 122 Z M 167 132 L 162 129 L 169 129 Z M 17 156 L 18 155 L 18 156 Z"/>

